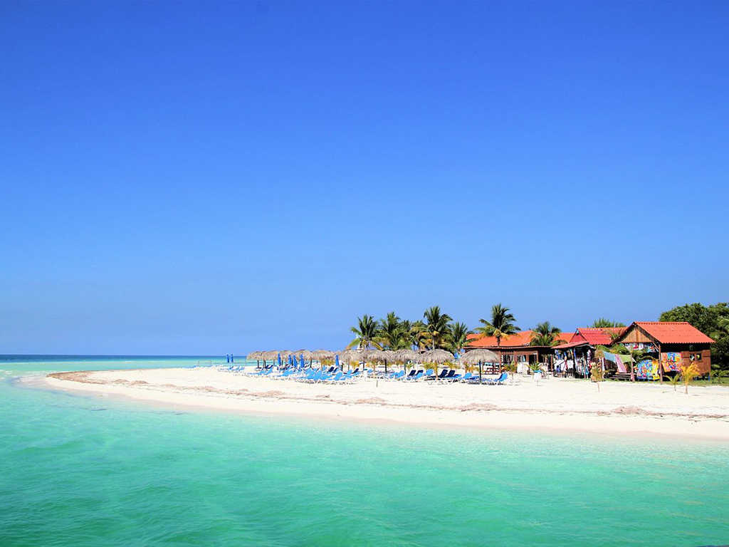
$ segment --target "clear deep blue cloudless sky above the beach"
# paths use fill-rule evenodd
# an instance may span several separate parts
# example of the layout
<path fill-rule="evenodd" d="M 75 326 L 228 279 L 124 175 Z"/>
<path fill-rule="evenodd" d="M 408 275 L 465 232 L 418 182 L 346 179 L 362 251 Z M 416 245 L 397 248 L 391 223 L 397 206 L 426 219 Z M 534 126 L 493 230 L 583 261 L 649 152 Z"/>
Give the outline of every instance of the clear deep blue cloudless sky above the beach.
<path fill-rule="evenodd" d="M 0 3 L 0 354 L 727 300 L 729 3 Z"/>

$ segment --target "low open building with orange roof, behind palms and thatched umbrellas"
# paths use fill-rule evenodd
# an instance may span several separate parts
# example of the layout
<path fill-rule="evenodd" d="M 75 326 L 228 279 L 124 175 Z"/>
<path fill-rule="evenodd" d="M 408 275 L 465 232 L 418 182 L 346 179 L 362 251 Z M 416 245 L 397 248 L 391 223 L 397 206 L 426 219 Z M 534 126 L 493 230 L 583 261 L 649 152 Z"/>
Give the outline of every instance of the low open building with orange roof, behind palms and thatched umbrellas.
<path fill-rule="evenodd" d="M 574 333 L 559 333 L 558 341 L 569 341 Z M 529 372 L 531 365 L 542 365 L 546 371 L 554 370 L 555 349 L 553 346 L 532 346 L 533 330 L 522 330 L 497 340 L 495 336 L 479 337 L 469 335 L 467 352 L 474 349 L 488 349 L 499 357 L 499 362 L 488 363 L 486 373 L 501 373 L 505 365 L 516 365 L 517 372 Z"/>

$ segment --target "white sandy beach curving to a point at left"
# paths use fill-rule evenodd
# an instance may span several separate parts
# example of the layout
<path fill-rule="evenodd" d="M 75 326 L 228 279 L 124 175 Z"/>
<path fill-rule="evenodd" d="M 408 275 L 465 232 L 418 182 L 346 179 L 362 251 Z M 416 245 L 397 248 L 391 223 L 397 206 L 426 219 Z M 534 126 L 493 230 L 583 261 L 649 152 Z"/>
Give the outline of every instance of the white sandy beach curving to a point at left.
<path fill-rule="evenodd" d="M 729 441 L 729 389 L 548 379 L 538 386 L 359 381 L 303 384 L 214 368 L 53 373 L 44 387 L 218 411 L 311 416 L 432 427 L 668 435 Z"/>

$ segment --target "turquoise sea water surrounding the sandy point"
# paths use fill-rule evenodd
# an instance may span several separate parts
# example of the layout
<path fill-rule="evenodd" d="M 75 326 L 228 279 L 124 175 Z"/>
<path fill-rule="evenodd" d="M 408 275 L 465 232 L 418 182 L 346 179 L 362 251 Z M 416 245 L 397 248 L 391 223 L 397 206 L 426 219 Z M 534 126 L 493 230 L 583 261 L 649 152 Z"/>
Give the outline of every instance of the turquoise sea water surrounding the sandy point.
<path fill-rule="evenodd" d="M 198 359 L 0 360 L 0 546 L 729 543 L 729 446 L 429 430 L 26 387 Z"/>

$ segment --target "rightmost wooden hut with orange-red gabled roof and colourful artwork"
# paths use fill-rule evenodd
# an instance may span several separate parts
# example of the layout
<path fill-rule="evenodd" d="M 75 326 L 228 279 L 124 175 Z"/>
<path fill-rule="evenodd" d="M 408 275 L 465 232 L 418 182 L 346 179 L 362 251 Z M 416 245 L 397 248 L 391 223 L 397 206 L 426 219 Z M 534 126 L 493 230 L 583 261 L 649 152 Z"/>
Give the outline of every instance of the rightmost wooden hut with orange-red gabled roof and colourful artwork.
<path fill-rule="evenodd" d="M 628 349 L 641 349 L 658 362 L 658 375 L 678 372 L 695 362 L 699 373 L 712 369 L 712 338 L 685 321 L 636 321 L 612 341 Z"/>

